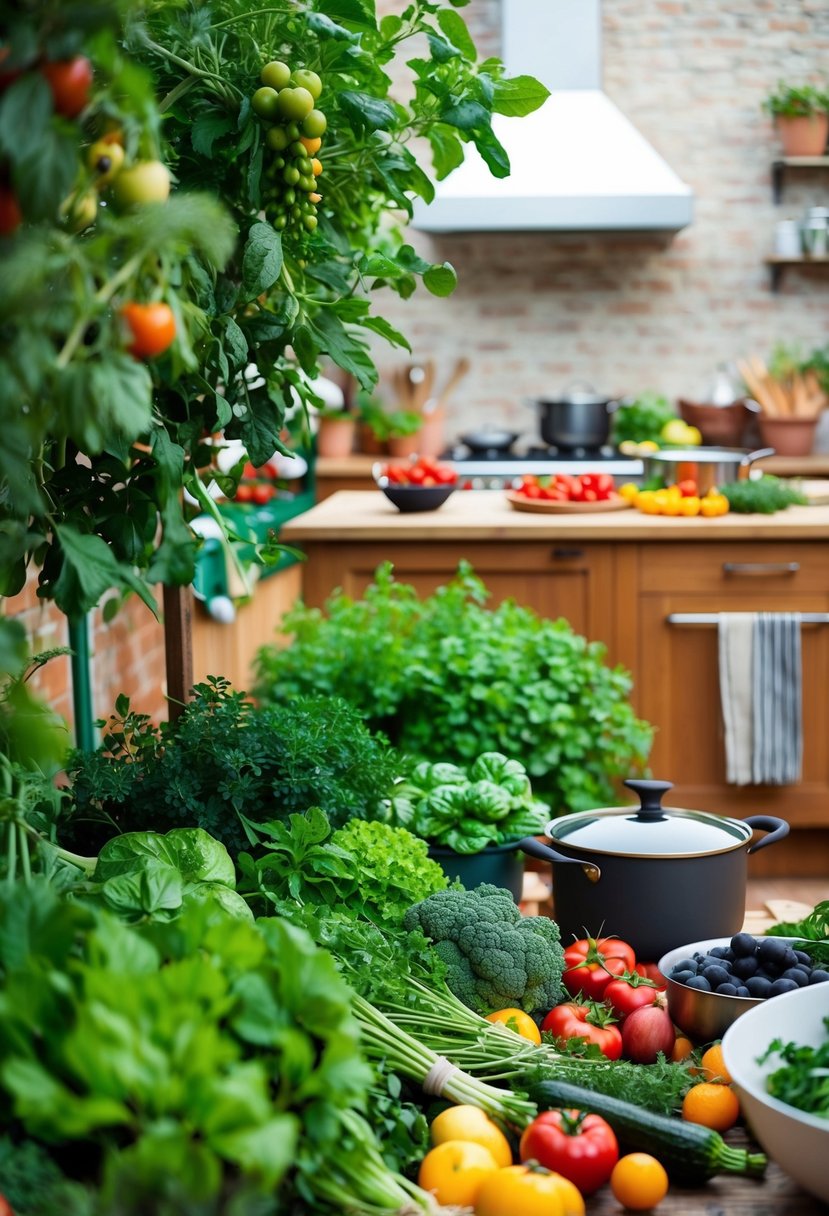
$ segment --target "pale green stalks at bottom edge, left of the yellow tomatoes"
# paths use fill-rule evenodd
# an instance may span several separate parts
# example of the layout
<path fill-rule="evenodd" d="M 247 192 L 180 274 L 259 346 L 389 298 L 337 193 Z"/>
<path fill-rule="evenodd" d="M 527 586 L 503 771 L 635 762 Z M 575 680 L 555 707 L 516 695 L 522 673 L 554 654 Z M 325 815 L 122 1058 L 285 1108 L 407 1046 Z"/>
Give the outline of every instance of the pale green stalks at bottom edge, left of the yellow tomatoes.
<path fill-rule="evenodd" d="M 338 1113 L 343 1135 L 325 1158 L 309 1161 L 303 1190 L 349 1216 L 440 1216 L 449 1212 L 434 1195 L 390 1170 L 377 1138 L 355 1110 Z"/>

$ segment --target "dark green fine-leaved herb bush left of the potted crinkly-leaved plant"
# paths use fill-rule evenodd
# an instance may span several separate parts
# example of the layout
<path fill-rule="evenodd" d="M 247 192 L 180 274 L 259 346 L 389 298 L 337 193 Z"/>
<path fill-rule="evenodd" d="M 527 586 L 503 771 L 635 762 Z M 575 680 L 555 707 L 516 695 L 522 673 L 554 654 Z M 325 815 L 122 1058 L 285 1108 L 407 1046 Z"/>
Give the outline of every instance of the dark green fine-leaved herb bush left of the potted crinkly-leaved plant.
<path fill-rule="evenodd" d="M 125 697 L 115 708 L 101 748 L 69 762 L 77 843 L 88 844 L 90 820 L 107 835 L 201 827 L 236 854 L 250 839 L 246 820 L 287 820 L 309 806 L 334 827 L 370 818 L 397 773 L 388 741 L 337 697 L 256 708 L 212 676 L 160 727 L 130 713 Z"/>

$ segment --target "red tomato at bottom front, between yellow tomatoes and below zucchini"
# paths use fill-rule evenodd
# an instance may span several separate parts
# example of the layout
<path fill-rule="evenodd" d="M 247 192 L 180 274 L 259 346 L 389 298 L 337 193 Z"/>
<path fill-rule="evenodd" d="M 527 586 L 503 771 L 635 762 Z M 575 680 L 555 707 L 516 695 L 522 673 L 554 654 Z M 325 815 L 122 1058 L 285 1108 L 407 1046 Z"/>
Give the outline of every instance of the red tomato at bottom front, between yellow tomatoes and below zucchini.
<path fill-rule="evenodd" d="M 575 1183 L 582 1195 L 603 1187 L 619 1160 L 610 1124 L 583 1110 L 545 1110 L 519 1144 L 521 1161 L 537 1161 Z"/>

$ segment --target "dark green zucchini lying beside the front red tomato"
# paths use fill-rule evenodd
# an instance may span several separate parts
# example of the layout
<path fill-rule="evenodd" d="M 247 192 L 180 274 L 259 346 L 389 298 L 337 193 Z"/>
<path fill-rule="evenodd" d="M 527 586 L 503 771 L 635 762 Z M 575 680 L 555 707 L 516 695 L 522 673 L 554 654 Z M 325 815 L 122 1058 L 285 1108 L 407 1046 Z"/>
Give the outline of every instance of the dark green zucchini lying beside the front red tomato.
<path fill-rule="evenodd" d="M 760 1178 L 766 1170 L 765 1153 L 732 1148 L 720 1132 L 683 1119 L 655 1115 L 632 1102 L 608 1098 L 566 1081 L 538 1081 L 530 1086 L 530 1098 L 542 1110 L 568 1107 L 602 1115 L 626 1148 L 650 1153 L 679 1184 L 699 1186 L 717 1173 Z"/>

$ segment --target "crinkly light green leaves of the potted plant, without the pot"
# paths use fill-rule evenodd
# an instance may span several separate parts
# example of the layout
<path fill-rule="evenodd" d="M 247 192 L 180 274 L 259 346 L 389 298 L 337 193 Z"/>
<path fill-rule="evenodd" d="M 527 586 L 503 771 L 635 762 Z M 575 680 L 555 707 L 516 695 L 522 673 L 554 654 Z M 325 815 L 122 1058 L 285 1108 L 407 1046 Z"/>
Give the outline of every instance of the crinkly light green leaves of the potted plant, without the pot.
<path fill-rule="evenodd" d="M 468 773 L 423 760 L 395 786 L 390 812 L 430 844 L 463 854 L 537 835 L 549 818 L 549 807 L 532 798 L 524 765 L 500 751 L 478 756 Z"/>

